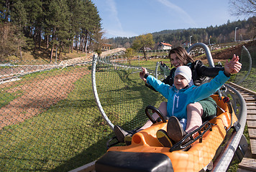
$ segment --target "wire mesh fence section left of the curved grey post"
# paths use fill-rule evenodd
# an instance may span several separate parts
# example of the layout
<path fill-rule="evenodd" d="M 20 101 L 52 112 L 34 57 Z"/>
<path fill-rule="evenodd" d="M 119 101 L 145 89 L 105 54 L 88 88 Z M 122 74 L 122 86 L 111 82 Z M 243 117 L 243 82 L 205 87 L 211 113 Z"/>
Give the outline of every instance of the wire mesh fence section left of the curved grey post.
<path fill-rule="evenodd" d="M 39 72 L 29 64 L 27 75 L 10 72 L 26 71 L 24 65 L 1 67 L 1 171 L 68 171 L 98 158 L 93 150 L 105 151 L 90 65 Z"/>

